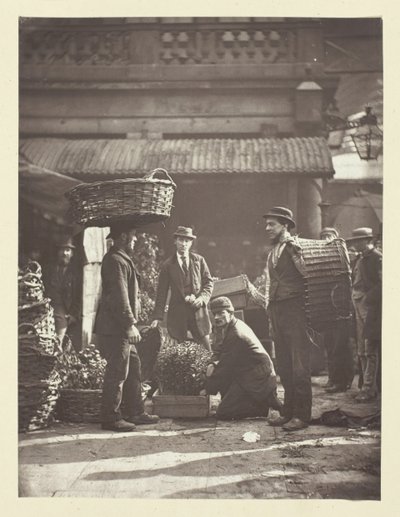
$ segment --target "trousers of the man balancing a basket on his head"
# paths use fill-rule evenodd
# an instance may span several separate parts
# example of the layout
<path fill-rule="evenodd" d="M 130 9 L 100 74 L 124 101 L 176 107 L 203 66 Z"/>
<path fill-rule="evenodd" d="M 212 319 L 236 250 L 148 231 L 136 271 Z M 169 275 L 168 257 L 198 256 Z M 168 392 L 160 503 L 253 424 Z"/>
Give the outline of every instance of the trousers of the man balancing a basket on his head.
<path fill-rule="evenodd" d="M 107 361 L 101 402 L 102 423 L 122 419 L 121 405 L 127 417 L 144 412 L 141 391 L 141 364 L 136 347 L 120 336 L 98 335 L 98 348 Z"/>

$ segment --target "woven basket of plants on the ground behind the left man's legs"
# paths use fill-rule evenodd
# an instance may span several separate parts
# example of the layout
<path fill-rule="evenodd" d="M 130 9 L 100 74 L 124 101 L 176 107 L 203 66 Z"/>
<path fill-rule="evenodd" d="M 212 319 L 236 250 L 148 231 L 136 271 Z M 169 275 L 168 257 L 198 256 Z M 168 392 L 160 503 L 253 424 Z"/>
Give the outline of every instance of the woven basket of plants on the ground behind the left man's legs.
<path fill-rule="evenodd" d="M 64 422 L 100 422 L 101 393 L 100 389 L 61 389 L 56 409 L 57 418 Z"/>

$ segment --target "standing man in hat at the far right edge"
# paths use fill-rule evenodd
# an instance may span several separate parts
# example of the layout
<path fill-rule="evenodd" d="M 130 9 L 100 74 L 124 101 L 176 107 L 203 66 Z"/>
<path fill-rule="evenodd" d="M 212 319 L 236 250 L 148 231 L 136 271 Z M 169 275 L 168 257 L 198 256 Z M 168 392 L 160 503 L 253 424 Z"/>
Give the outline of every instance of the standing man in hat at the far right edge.
<path fill-rule="evenodd" d="M 382 254 L 373 245 L 371 228 L 356 228 L 346 242 L 359 253 L 353 267 L 352 299 L 363 384 L 356 400 L 367 402 L 377 395 L 380 368 Z"/>

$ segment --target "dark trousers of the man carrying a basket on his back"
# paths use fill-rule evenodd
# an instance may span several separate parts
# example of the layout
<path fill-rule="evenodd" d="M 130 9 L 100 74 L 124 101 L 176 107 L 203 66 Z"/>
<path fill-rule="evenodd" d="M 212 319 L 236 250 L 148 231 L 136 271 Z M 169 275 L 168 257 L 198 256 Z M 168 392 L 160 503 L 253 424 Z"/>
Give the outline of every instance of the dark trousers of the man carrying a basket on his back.
<path fill-rule="evenodd" d="M 281 414 L 311 420 L 312 390 L 310 338 L 302 297 L 271 301 L 268 306 L 277 359 L 277 371 L 284 388 Z"/>

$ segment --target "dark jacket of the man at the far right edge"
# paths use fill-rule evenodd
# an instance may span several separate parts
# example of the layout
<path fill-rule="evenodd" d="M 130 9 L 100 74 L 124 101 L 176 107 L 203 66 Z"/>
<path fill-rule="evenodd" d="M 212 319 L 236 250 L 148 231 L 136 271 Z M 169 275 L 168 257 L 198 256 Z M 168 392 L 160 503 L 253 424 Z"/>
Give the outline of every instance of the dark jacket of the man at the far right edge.
<path fill-rule="evenodd" d="M 382 325 L 382 253 L 368 249 L 357 259 L 361 276 L 367 316 L 364 325 L 365 339 L 380 339 Z M 353 270 L 354 271 L 354 270 Z"/>

